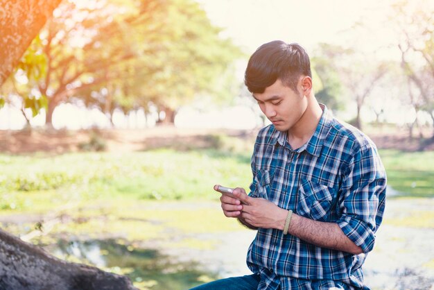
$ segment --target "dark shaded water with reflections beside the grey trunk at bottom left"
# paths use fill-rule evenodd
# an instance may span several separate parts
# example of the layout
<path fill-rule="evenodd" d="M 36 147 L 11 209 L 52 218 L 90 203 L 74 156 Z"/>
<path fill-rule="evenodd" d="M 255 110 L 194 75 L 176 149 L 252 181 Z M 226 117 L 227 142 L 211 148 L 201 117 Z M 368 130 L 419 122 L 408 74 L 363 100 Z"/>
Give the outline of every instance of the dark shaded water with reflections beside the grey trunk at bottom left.
<path fill-rule="evenodd" d="M 215 273 L 200 271 L 198 264 L 176 262 L 158 250 L 134 248 L 119 239 L 59 240 L 44 248 L 62 259 L 127 275 L 139 289 L 189 289 L 217 278 Z"/>

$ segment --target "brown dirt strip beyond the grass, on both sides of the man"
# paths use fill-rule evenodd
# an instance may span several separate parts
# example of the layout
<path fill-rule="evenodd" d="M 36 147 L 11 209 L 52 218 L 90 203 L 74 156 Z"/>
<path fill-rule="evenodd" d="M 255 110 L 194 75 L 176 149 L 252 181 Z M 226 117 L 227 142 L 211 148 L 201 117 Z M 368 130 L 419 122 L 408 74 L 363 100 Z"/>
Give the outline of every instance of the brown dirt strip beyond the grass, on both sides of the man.
<path fill-rule="evenodd" d="M 257 130 L 186 129 L 173 126 L 137 130 L 0 130 L 0 152 L 3 153 L 67 153 L 80 150 L 80 144 L 89 142 L 96 135 L 106 144 L 106 151 L 140 151 L 147 148 L 168 146 L 176 141 L 180 146 L 197 144 L 209 146 L 206 135 L 254 135 Z M 434 150 L 434 139 L 409 139 L 406 130 L 383 128 L 367 132 L 379 148 L 395 148 L 403 151 Z M 430 135 L 431 132 L 425 135 Z"/>

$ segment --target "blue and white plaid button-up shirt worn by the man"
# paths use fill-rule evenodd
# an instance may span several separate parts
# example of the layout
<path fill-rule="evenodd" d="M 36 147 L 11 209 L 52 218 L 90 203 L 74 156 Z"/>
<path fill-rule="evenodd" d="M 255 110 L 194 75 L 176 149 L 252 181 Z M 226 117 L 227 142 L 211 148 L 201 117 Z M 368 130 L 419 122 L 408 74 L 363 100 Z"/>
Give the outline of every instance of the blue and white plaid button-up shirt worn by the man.
<path fill-rule="evenodd" d="M 338 223 L 363 253 L 320 248 L 281 230 L 259 228 L 247 257 L 250 270 L 261 275 L 258 289 L 368 289 L 361 266 L 383 219 L 385 170 L 369 138 L 322 109 L 315 133 L 296 150 L 274 126 L 259 131 L 250 196 Z"/>

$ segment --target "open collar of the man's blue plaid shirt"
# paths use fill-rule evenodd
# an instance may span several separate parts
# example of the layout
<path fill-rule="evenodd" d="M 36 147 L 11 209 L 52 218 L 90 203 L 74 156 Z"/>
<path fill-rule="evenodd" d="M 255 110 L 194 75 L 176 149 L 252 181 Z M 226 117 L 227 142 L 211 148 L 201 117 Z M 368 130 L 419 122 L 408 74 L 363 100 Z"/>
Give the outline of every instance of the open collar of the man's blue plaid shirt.
<path fill-rule="evenodd" d="M 333 116 L 331 115 L 331 112 L 329 112 L 329 110 L 327 109 L 326 105 L 320 103 L 320 106 L 322 108 L 320 122 L 318 123 L 318 126 L 316 127 L 311 139 L 309 139 L 309 141 L 306 142 L 303 146 L 298 148 L 296 150 L 297 152 L 302 152 L 303 150 L 306 150 L 312 155 L 320 155 L 322 144 L 324 143 L 325 137 L 329 133 L 331 120 L 333 119 Z M 277 143 L 279 143 L 280 146 L 288 146 L 290 148 L 287 140 L 288 133 L 286 131 L 281 132 L 275 130 L 275 132 L 272 133 L 272 135 L 270 136 L 271 145 L 276 145 Z"/>

